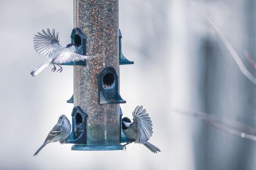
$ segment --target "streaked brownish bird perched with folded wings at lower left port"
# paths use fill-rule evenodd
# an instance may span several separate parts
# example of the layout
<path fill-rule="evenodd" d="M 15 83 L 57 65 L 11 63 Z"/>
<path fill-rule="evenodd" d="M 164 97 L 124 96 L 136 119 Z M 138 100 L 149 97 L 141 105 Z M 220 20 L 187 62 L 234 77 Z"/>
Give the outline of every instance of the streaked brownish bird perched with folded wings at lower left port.
<path fill-rule="evenodd" d="M 58 142 L 65 140 L 71 132 L 71 124 L 65 115 L 60 116 L 57 124 L 52 128 L 48 136 L 46 137 L 43 145 L 33 155 L 37 155 L 43 147 L 50 142 Z"/>

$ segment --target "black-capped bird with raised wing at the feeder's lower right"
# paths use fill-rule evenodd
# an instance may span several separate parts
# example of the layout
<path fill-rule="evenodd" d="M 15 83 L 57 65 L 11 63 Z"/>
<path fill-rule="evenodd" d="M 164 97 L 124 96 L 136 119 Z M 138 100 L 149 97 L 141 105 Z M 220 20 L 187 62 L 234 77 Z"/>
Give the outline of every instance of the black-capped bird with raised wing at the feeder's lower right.
<path fill-rule="evenodd" d="M 133 122 L 127 117 L 122 119 L 122 129 L 125 136 L 134 140 L 135 143 L 143 144 L 153 153 L 161 152 L 160 149 L 148 142 L 153 133 L 152 123 L 143 106 L 137 106 L 132 112 L 132 116 Z"/>

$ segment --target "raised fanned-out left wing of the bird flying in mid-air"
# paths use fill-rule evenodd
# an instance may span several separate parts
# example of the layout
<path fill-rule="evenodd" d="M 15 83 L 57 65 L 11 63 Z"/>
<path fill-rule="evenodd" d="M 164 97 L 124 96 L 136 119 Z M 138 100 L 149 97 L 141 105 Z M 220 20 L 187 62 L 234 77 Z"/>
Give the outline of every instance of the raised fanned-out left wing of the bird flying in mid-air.
<path fill-rule="evenodd" d="M 56 49 L 62 46 L 59 44 L 58 32 L 55 35 L 54 29 L 50 32 L 49 28 L 47 28 L 46 32 L 42 30 L 42 33 L 43 34 L 38 33 L 38 35 L 35 35 L 34 47 L 40 55 L 49 58 Z"/>

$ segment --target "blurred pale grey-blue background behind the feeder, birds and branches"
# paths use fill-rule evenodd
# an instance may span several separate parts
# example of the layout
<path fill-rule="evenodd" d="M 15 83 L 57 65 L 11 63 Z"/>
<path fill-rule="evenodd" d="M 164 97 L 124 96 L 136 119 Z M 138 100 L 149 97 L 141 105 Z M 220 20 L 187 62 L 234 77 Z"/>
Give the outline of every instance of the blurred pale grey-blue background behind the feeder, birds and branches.
<path fill-rule="evenodd" d="M 198 0 L 241 57 L 256 59 L 256 1 Z M 139 144 L 126 151 L 71 151 L 51 143 L 33 157 L 58 117 L 71 119 L 73 68 L 36 77 L 44 58 L 32 38 L 42 29 L 59 31 L 70 42 L 72 0 L 0 0 L 0 169 L 2 170 L 254 170 L 256 142 L 215 129 L 172 108 L 202 111 L 256 126 L 256 87 L 241 73 L 190 0 L 119 0 L 124 55 L 120 66 L 124 116 L 144 105 L 153 123 L 151 153 Z"/>

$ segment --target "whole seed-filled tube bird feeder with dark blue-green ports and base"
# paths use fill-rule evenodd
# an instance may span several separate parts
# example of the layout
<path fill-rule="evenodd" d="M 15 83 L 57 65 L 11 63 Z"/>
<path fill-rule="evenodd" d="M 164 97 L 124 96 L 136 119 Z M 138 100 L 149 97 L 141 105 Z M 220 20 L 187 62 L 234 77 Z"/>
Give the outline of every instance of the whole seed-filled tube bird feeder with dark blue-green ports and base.
<path fill-rule="evenodd" d="M 122 150 L 129 142 L 122 133 L 119 65 L 133 64 L 121 51 L 118 0 L 74 0 L 74 28 L 71 43 L 77 53 L 100 54 L 74 67 L 72 132 L 64 143 L 72 150 Z"/>

